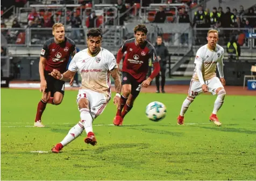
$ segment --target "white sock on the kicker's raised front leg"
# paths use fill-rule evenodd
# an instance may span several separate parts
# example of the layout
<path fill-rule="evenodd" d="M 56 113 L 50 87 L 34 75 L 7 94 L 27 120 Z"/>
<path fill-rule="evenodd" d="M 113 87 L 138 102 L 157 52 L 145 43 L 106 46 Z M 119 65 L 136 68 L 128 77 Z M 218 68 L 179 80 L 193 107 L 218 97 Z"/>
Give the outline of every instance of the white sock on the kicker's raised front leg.
<path fill-rule="evenodd" d="M 80 122 L 84 126 L 84 130 L 86 130 L 86 134 L 89 132 L 93 132 L 93 118 L 91 117 L 90 110 L 87 108 L 82 108 L 80 111 Z"/>

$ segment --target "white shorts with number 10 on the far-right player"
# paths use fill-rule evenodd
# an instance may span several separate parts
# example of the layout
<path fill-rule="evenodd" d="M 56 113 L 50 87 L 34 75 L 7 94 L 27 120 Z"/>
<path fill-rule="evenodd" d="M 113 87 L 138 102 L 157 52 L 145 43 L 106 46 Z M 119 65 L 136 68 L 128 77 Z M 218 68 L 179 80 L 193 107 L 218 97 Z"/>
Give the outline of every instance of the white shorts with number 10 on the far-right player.
<path fill-rule="evenodd" d="M 209 92 L 212 95 L 216 94 L 216 89 L 219 87 L 223 87 L 221 80 L 218 77 L 213 77 L 209 80 L 205 80 L 205 84 L 208 86 Z M 202 85 L 200 81 L 195 81 L 193 78 L 191 79 L 188 95 L 191 97 L 195 97 L 198 94 L 202 93 Z"/>

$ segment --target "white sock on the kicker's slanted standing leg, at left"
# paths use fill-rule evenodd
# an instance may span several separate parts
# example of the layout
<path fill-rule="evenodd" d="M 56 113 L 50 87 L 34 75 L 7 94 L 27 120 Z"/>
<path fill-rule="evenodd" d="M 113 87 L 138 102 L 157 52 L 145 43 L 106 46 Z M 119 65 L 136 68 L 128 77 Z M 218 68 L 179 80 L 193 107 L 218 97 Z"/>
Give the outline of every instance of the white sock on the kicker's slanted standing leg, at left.
<path fill-rule="evenodd" d="M 81 125 L 80 123 L 77 123 L 74 127 L 72 127 L 72 129 L 69 130 L 66 137 L 60 143 L 63 146 L 66 146 L 71 141 L 76 139 L 83 132 L 83 130 L 84 130 L 83 125 Z"/>

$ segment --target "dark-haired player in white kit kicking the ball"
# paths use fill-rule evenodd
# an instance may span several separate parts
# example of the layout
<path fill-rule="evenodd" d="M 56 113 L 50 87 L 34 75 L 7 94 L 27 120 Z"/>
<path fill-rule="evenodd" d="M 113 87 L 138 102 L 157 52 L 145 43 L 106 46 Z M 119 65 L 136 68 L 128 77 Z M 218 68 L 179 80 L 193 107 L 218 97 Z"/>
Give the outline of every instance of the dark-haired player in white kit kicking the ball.
<path fill-rule="evenodd" d="M 93 133 L 93 120 L 99 116 L 111 99 L 110 74 L 115 80 L 116 96 L 113 102 L 120 107 L 121 79 L 116 58 L 113 54 L 101 47 L 102 31 L 99 28 L 87 32 L 88 48 L 78 52 L 69 64 L 68 71 L 61 74 L 53 70 L 51 76 L 56 79 L 70 79 L 76 71 L 80 71 L 82 86 L 76 98 L 80 111 L 80 122 L 69 130 L 66 137 L 52 148 L 52 152 L 60 150 L 77 138 L 83 130 L 87 133 L 84 142 L 96 145 Z"/>

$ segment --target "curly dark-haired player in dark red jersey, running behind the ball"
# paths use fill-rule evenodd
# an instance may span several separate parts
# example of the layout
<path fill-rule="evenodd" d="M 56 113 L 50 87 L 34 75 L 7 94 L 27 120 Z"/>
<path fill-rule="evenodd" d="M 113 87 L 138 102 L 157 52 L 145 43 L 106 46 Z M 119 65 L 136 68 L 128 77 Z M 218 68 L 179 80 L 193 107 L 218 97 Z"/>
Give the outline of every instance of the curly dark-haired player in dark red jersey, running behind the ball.
<path fill-rule="evenodd" d="M 153 45 L 146 40 L 147 27 L 137 25 L 133 29 L 135 38 L 126 40 L 117 52 L 117 65 L 125 55 L 122 67 L 122 96 L 120 99 L 120 109 L 117 110 L 113 124 L 122 125 L 125 115 L 132 109 L 133 102 L 139 95 L 141 86 L 148 87 L 150 82 L 158 75 L 160 64 L 157 53 Z M 152 59 L 154 71 L 146 79 L 148 71 L 148 61 Z"/>

